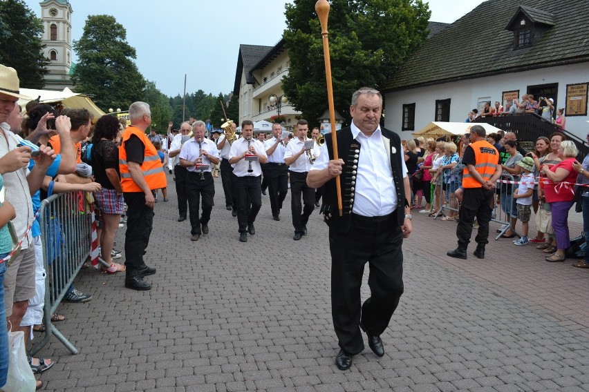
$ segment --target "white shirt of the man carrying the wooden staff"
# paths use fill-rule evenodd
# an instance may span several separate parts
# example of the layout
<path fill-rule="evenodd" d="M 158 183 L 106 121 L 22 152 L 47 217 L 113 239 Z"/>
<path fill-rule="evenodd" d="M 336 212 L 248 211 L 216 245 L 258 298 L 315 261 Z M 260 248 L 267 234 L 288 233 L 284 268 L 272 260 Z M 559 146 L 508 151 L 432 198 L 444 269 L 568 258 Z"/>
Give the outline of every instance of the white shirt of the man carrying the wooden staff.
<path fill-rule="evenodd" d="M 380 126 L 366 137 L 352 122 L 352 136 L 362 146 L 358 158 L 355 184 L 355 198 L 352 212 L 364 217 L 389 215 L 397 208 L 397 190 L 393 180 L 393 169 L 386 150 Z M 392 147 L 392 146 L 391 146 Z M 403 177 L 407 177 L 407 166 L 403 159 L 403 150 L 396 151 L 399 157 Z M 321 146 L 321 154 L 311 170 L 323 170 L 329 163 L 327 146 Z M 348 162 L 351 164 L 351 162 Z"/>

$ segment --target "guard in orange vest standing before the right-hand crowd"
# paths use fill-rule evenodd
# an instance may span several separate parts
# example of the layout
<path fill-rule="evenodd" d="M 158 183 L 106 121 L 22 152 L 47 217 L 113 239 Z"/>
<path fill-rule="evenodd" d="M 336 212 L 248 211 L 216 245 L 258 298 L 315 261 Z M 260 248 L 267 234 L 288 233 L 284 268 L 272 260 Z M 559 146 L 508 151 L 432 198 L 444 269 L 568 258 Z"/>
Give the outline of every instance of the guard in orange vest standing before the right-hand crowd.
<path fill-rule="evenodd" d="M 475 237 L 476 251 L 479 259 L 485 258 L 485 245 L 489 242 L 489 221 L 491 220 L 491 204 L 493 202 L 495 182 L 501 176 L 499 153 L 487 142 L 485 128 L 476 125 L 470 128 L 470 145 L 465 148 L 462 163 L 462 207 L 460 220 L 456 228 L 458 248 L 447 253 L 458 259 L 467 258 L 467 247 L 472 234 L 472 224 L 476 216 L 478 233 Z"/>

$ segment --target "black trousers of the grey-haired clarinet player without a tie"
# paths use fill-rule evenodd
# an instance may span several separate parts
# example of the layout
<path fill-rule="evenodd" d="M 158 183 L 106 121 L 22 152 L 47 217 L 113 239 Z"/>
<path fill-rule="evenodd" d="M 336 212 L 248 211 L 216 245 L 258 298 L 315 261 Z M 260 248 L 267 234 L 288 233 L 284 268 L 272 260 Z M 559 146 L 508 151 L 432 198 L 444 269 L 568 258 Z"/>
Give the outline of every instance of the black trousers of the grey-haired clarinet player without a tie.
<path fill-rule="evenodd" d="M 215 205 L 215 183 L 211 173 L 203 173 L 205 179 L 200 179 L 200 173 L 188 172 L 186 177 L 186 194 L 190 211 L 190 234 L 200 234 L 200 225 L 208 224 L 211 211 Z M 203 197 L 203 215 L 200 215 L 200 197 Z"/>

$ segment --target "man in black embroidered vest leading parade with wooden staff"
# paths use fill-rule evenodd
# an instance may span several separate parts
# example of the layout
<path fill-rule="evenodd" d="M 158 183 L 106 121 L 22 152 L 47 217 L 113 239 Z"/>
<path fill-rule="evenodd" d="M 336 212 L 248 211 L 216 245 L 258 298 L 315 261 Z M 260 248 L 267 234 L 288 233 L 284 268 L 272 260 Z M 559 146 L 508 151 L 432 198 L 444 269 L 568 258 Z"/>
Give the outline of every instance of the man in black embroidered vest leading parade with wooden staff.
<path fill-rule="evenodd" d="M 338 369 L 352 365 L 354 355 L 368 346 L 384 355 L 380 335 L 389 325 L 403 293 L 403 238 L 411 233 L 411 188 L 400 137 L 380 128 L 382 95 L 361 88 L 352 95 L 352 124 L 337 131 L 339 159 L 333 159 L 332 135 L 325 135 L 321 155 L 307 183 L 324 186 L 321 210 L 329 226 L 331 306 L 341 350 Z M 335 177 L 341 175 L 342 217 L 337 206 Z M 370 266 L 369 297 L 360 306 L 360 286 Z"/>

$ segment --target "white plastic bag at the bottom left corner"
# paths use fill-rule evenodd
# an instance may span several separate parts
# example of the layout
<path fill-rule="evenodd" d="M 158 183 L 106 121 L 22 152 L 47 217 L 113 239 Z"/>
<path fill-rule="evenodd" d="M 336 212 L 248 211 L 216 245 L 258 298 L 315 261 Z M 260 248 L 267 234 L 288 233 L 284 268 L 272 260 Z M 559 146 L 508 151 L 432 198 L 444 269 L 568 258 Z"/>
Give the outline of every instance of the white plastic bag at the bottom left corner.
<path fill-rule="evenodd" d="M 4 392 L 33 392 L 37 381 L 26 357 L 24 332 L 8 333 L 8 378 L 2 387 Z"/>

